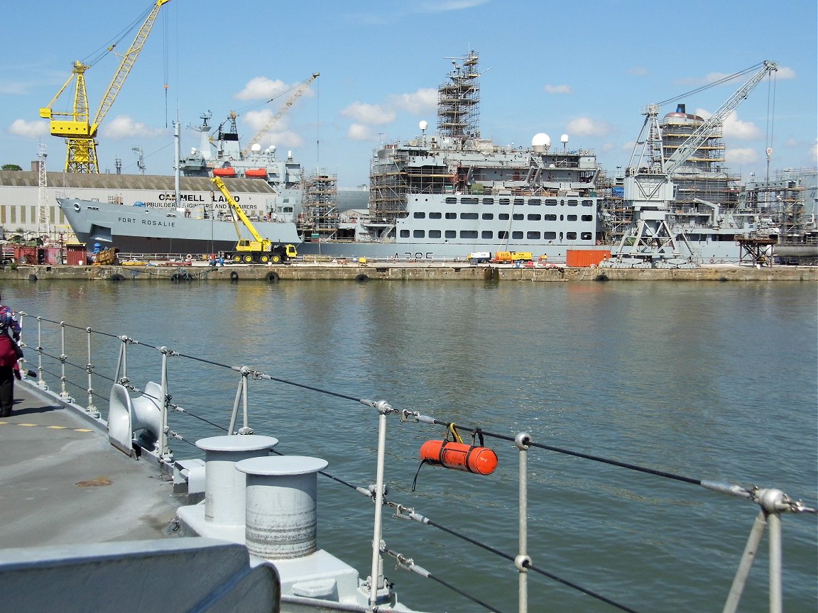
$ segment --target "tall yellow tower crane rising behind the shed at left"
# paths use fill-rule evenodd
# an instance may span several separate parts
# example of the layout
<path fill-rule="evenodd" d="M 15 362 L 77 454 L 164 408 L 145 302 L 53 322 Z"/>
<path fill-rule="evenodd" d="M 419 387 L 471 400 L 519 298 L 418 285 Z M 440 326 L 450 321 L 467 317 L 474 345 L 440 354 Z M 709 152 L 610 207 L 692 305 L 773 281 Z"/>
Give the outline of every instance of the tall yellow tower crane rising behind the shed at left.
<path fill-rule="evenodd" d="M 83 64 L 81 61 L 75 61 L 74 67 L 71 70 L 71 76 L 65 81 L 65 84 L 56 92 L 56 96 L 52 101 L 40 109 L 40 117 L 50 120 L 50 132 L 52 136 L 60 136 L 65 138 L 68 145 L 68 150 L 65 154 L 65 172 L 100 172 L 99 163 L 97 162 L 97 130 L 100 123 L 105 119 L 106 114 L 110 110 L 111 105 L 114 104 L 116 96 L 119 95 L 119 90 L 125 79 L 128 78 L 133 63 L 137 60 L 148 34 L 151 34 L 156 16 L 159 14 L 162 5 L 170 2 L 170 0 L 156 0 L 147 19 L 142 24 L 142 27 L 137 32 L 136 38 L 133 39 L 131 47 L 122 56 L 122 61 L 119 63 L 114 78 L 111 80 L 105 95 L 102 96 L 97 114 L 91 120 L 91 115 L 88 109 L 88 93 L 85 89 L 85 71 L 90 68 L 89 65 Z M 113 47 L 111 47 L 113 48 Z M 70 111 L 56 111 L 53 106 L 56 103 L 62 92 L 69 83 L 74 81 L 74 108 Z"/>

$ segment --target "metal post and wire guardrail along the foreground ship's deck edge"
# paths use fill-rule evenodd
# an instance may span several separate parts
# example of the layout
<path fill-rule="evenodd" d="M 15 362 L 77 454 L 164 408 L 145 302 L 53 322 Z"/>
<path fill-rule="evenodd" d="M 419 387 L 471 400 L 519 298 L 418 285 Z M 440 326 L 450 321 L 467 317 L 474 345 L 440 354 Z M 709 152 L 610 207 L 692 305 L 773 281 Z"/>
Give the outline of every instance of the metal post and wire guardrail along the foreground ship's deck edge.
<path fill-rule="evenodd" d="M 733 584 L 730 588 L 730 593 L 728 593 L 726 598 L 726 604 L 723 609 L 723 613 L 735 613 L 738 609 L 739 600 L 742 596 L 744 591 L 744 586 L 747 582 L 749 572 L 751 566 L 753 564 L 753 560 L 756 557 L 758 545 L 760 544 L 763 536 L 763 532 L 767 526 L 769 526 L 769 600 L 770 600 L 770 611 L 771 613 L 780 613 L 782 611 L 782 603 L 783 603 L 783 594 L 782 594 L 782 566 L 781 566 L 781 549 L 782 549 L 782 539 L 781 539 L 781 516 L 784 513 L 808 513 L 812 515 L 818 515 L 818 510 L 816 508 L 807 507 L 801 500 L 796 500 L 789 497 L 788 494 L 785 494 L 783 491 L 775 489 L 775 488 L 760 488 L 755 485 L 746 487 L 743 485 L 735 485 L 730 483 L 721 483 L 717 481 L 709 481 L 706 479 L 697 479 L 692 477 L 685 477 L 682 475 L 673 474 L 670 472 L 663 472 L 658 471 L 653 468 L 647 468 L 644 466 L 639 466 L 636 464 L 631 463 L 623 463 L 614 459 L 605 458 L 598 455 L 587 454 L 583 452 L 578 452 L 575 450 L 564 449 L 560 447 L 555 447 L 553 445 L 545 445 L 536 440 L 533 434 L 529 432 L 519 432 L 515 436 L 504 435 L 501 433 L 494 433 L 494 432 L 487 432 L 480 427 L 474 427 L 473 425 L 465 425 L 465 424 L 458 424 L 454 423 L 453 421 L 449 421 L 447 419 L 440 419 L 434 418 L 429 415 L 421 414 L 419 411 L 413 411 L 409 409 L 396 409 L 393 408 L 388 402 L 384 400 L 366 400 L 364 398 L 358 398 L 357 396 L 349 396 L 346 393 L 335 392 L 328 389 L 322 389 L 320 387 L 315 387 L 313 385 L 309 385 L 306 383 L 299 383 L 296 381 L 287 380 L 284 378 L 279 378 L 273 376 L 271 374 L 263 373 L 259 370 L 252 369 L 249 366 L 242 365 L 242 366 L 231 366 L 226 364 L 220 364 L 218 362 L 214 362 L 212 360 L 205 360 L 200 357 L 185 355 L 181 352 L 174 351 L 169 347 L 164 346 L 155 346 L 151 343 L 140 342 L 137 339 L 131 338 L 127 335 L 117 335 L 113 333 L 106 333 L 98 330 L 94 330 L 90 327 L 79 327 L 73 324 L 67 324 L 64 321 L 55 321 L 49 320 L 43 316 L 29 314 L 27 312 L 20 312 L 20 323 L 22 328 L 24 329 L 24 333 L 22 335 L 23 342 L 21 343 L 22 346 L 28 350 L 34 349 L 37 355 L 36 358 L 36 365 L 33 362 L 29 361 L 29 357 L 26 357 L 23 360 L 24 365 L 28 365 L 32 368 L 37 369 L 37 385 L 38 387 L 42 388 L 43 390 L 49 389 L 49 383 L 47 382 L 45 375 L 53 378 L 56 382 L 59 382 L 60 385 L 60 392 L 59 396 L 61 400 L 69 403 L 70 405 L 74 405 L 77 407 L 78 410 L 84 411 L 90 418 L 97 418 L 101 419 L 101 414 L 103 413 L 98 406 L 99 402 L 108 402 L 108 396 L 102 395 L 97 392 L 97 387 L 95 387 L 96 383 L 110 383 L 114 385 L 118 383 L 128 389 L 128 391 L 142 394 L 144 397 L 150 397 L 151 400 L 155 400 L 156 404 L 160 406 L 162 412 L 162 432 L 157 432 L 156 434 L 156 442 L 153 449 L 140 447 L 139 451 L 141 454 L 147 454 L 149 457 L 152 457 L 156 463 L 160 466 L 164 466 L 167 469 L 180 470 L 181 467 L 174 461 L 173 459 L 173 451 L 170 449 L 169 446 L 169 439 L 183 441 L 190 445 L 194 445 L 193 441 L 188 441 L 184 436 L 176 432 L 175 430 L 171 429 L 169 426 L 169 416 L 171 414 L 182 414 L 187 417 L 199 419 L 201 423 L 206 423 L 210 427 L 216 428 L 222 432 L 226 432 L 227 435 L 245 435 L 245 434 L 252 434 L 254 432 L 253 428 L 250 427 L 249 424 L 249 383 L 250 382 L 274 382 L 274 383 L 281 383 L 287 386 L 297 387 L 302 390 L 307 390 L 309 392 L 315 392 L 316 394 L 320 394 L 323 396 L 330 396 L 332 398 L 338 400 L 347 400 L 353 403 L 358 403 L 365 405 L 370 409 L 375 409 L 375 413 L 377 414 L 378 423 L 379 423 L 379 444 L 378 444 L 378 463 L 377 463 L 377 478 L 374 485 L 369 485 L 368 487 L 361 486 L 361 485 L 353 485 L 339 479 L 331 475 L 326 471 L 319 471 L 320 474 L 324 477 L 329 477 L 333 481 L 338 482 L 341 485 L 346 485 L 354 490 L 356 490 L 359 494 L 366 495 L 367 498 L 370 498 L 375 503 L 375 529 L 373 535 L 373 549 L 372 549 L 372 568 L 371 568 L 371 577 L 375 577 L 375 581 L 369 582 L 370 588 L 370 606 L 375 606 L 377 602 L 377 597 L 380 591 L 384 589 L 384 586 L 387 585 L 387 582 L 383 575 L 383 560 L 382 557 L 388 555 L 393 557 L 397 565 L 416 572 L 417 574 L 428 578 L 433 579 L 434 581 L 442 584 L 444 587 L 452 589 L 454 592 L 461 594 L 462 596 L 469 598 L 472 602 L 479 604 L 480 606 L 485 607 L 489 611 L 497 611 L 497 609 L 492 608 L 492 606 L 488 605 L 485 602 L 480 601 L 470 593 L 466 592 L 463 589 L 457 588 L 452 584 L 447 584 L 443 579 L 440 579 L 431 573 L 428 570 L 425 570 L 423 567 L 417 565 L 411 557 L 408 557 L 402 553 L 398 553 L 393 551 L 392 549 L 388 548 L 384 544 L 384 540 L 382 538 L 381 530 L 381 517 L 382 517 L 382 508 L 389 507 L 394 509 L 394 518 L 400 519 L 411 519 L 414 521 L 418 521 L 423 525 L 426 526 L 433 526 L 438 528 L 439 530 L 443 530 L 449 535 L 452 535 L 458 539 L 462 539 L 465 542 L 473 544 L 479 548 L 483 548 L 484 550 L 497 555 L 498 557 L 504 558 L 507 561 L 513 562 L 515 569 L 518 572 L 518 581 L 519 581 L 519 611 L 520 613 L 526 613 L 528 611 L 528 572 L 533 571 L 539 575 L 543 575 L 548 577 L 560 584 L 578 590 L 579 592 L 586 594 L 587 596 L 591 596 L 599 600 L 600 602 L 605 602 L 614 608 L 617 608 L 621 611 L 633 611 L 636 613 L 636 610 L 631 609 L 629 606 L 625 606 L 619 602 L 615 602 L 612 599 L 604 597 L 591 589 L 584 588 L 578 584 L 574 584 L 566 579 L 561 578 L 558 575 L 555 575 L 549 570 L 545 570 L 540 566 L 536 566 L 533 562 L 533 557 L 531 557 L 528 553 L 528 475 L 530 469 L 528 468 L 528 451 L 532 449 L 540 449 L 540 450 L 547 450 L 558 454 L 567 454 L 569 456 L 586 459 L 588 461 L 597 462 L 597 463 L 605 463 L 609 466 L 614 466 L 630 471 L 642 472 L 645 474 L 652 475 L 654 477 L 662 477 L 665 479 L 669 479 L 671 481 L 685 483 L 687 485 L 699 485 L 706 490 L 715 491 L 721 494 L 729 494 L 731 496 L 735 496 L 741 499 L 749 500 L 750 502 L 756 504 L 759 508 L 759 512 L 757 517 L 753 523 L 752 530 L 748 537 L 747 544 L 744 548 L 744 553 L 742 554 L 739 560 L 738 570 L 736 571 L 735 578 L 733 580 Z M 34 320 L 36 322 L 36 335 L 37 335 L 37 345 L 36 347 L 32 347 L 32 344 L 29 342 L 25 342 L 27 338 L 30 338 L 30 334 L 26 334 L 29 330 L 27 328 L 27 323 L 29 320 Z M 69 335 L 74 333 L 76 335 L 71 341 L 69 339 Z M 84 339 L 83 339 L 84 336 Z M 92 338 L 99 337 L 98 340 L 92 342 Z M 55 341 L 56 339 L 56 341 Z M 83 342 L 84 340 L 84 342 Z M 100 360 L 99 354 L 104 352 L 101 348 L 103 347 L 102 341 L 107 341 L 110 343 L 112 347 L 116 348 L 117 353 L 117 360 L 115 370 L 111 374 L 106 374 L 102 371 L 100 367 L 97 367 L 96 364 L 112 364 L 113 360 Z M 92 347 L 96 347 L 96 351 L 92 351 Z M 137 349 L 145 348 L 150 351 L 158 351 L 160 354 L 160 362 L 161 362 L 161 393 L 160 396 L 151 396 L 146 394 L 144 389 L 140 389 L 136 385 L 133 384 L 132 378 L 129 376 L 129 369 L 128 369 L 128 356 L 130 352 L 136 351 Z M 108 348 L 109 355 L 111 351 L 111 347 Z M 81 354 L 79 357 L 76 354 Z M 32 355 L 32 351 L 28 352 L 28 355 Z M 96 357 L 96 361 L 95 361 Z M 213 421 L 209 420 L 208 418 L 204 418 L 202 416 L 196 415 L 193 411 L 185 409 L 182 405 L 178 404 L 178 401 L 171 401 L 173 399 L 173 394 L 169 393 L 172 392 L 169 384 L 168 378 L 168 360 L 170 358 L 173 359 L 183 359 L 183 360 L 192 360 L 197 365 L 201 366 L 210 366 L 217 369 L 222 369 L 227 374 L 228 372 L 239 375 L 239 383 L 238 389 L 236 391 L 235 400 L 233 402 L 233 406 L 231 409 L 229 425 L 227 427 L 222 426 L 218 423 L 214 423 Z M 84 364 L 83 364 L 84 361 Z M 142 360 L 144 363 L 144 360 Z M 131 362 L 133 365 L 133 360 Z M 22 368 L 22 367 L 21 367 Z M 55 370 L 52 370 L 57 368 Z M 133 371 L 133 369 L 132 369 Z M 78 402 L 72 396 L 70 392 L 70 387 L 75 387 L 79 391 L 83 392 L 83 395 L 87 396 L 87 400 L 85 403 Z M 498 441 L 510 441 L 513 442 L 515 449 L 519 451 L 519 468 L 518 468 L 518 478 L 519 478 L 519 513 L 518 513 L 518 526 L 519 526 L 519 546 L 518 551 L 514 554 L 511 553 L 503 553 L 496 548 L 492 548 L 483 542 L 480 542 L 477 539 L 471 538 L 469 535 L 458 533 L 456 530 L 451 530 L 446 526 L 440 525 L 435 521 L 429 519 L 429 517 L 425 517 L 420 512 L 416 512 L 414 507 L 403 505 L 401 503 L 395 503 L 387 498 L 387 491 L 384 485 L 384 459 L 385 459 L 385 443 L 386 443 L 386 419 L 388 416 L 392 416 L 393 418 L 398 418 L 400 424 L 426 424 L 426 425 L 433 425 L 433 426 L 443 426 L 447 428 L 447 431 L 456 431 L 461 430 L 461 432 L 470 432 L 473 442 L 475 436 L 479 436 L 480 440 L 483 440 L 483 437 L 494 438 Z M 104 419 L 101 419 L 103 422 Z M 240 426 L 237 427 L 237 422 L 241 422 Z M 140 441 L 137 441 L 136 437 L 132 441 L 134 447 L 140 445 Z M 273 453 L 279 454 L 278 451 L 272 450 Z M 397 566 L 396 566 L 397 568 Z M 284 597 L 282 597 L 284 599 Z M 303 599 L 302 599 L 303 600 Z M 297 598 L 294 599 L 293 602 L 296 602 Z M 374 609 L 372 609 L 374 610 Z"/>

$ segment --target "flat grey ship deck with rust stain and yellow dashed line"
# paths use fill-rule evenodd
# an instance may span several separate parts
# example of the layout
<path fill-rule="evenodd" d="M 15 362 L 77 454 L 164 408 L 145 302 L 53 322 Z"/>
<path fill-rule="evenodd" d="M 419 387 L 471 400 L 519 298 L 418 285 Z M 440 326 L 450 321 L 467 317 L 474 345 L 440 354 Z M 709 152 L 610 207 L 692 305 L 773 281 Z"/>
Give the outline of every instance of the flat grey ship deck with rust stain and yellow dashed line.
<path fill-rule="evenodd" d="M 186 503 L 146 460 L 110 446 L 74 409 L 16 382 L 0 419 L 0 548 L 159 539 Z"/>

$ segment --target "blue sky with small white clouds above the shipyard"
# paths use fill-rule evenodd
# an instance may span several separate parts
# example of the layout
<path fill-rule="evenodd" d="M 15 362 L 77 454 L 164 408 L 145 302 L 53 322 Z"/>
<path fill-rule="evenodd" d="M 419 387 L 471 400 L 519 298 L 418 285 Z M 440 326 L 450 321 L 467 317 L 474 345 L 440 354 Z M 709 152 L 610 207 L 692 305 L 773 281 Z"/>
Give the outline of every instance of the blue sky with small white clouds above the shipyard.
<path fill-rule="evenodd" d="M 65 144 L 49 136 L 38 110 L 70 76 L 129 26 L 151 0 L 17 2 L 3 16 L 0 163 L 28 169 L 38 143 L 47 168 L 61 171 Z M 762 60 L 780 65 L 725 123 L 727 164 L 748 178 L 816 166 L 818 48 L 815 0 L 643 2 L 597 0 L 171 0 L 101 124 L 101 172 L 173 172 L 177 109 L 182 152 L 198 146 L 200 114 L 211 126 L 239 115 L 244 143 L 284 105 L 291 88 L 321 77 L 261 144 L 292 151 L 308 170 L 365 184 L 372 150 L 437 125 L 436 88 L 453 57 L 479 53 L 480 130 L 500 145 L 529 145 L 537 132 L 569 148 L 596 150 L 609 172 L 626 166 L 649 103 L 691 92 Z M 125 34 L 127 49 L 136 29 Z M 86 72 L 97 109 L 119 58 Z M 742 80 L 683 100 L 688 112 L 717 110 Z M 165 89 L 167 84 L 167 90 Z M 70 109 L 65 92 L 55 110 Z M 268 102 L 272 99 L 272 102 Z M 667 106 L 667 112 L 675 110 Z M 665 109 L 663 108 L 663 112 Z"/>

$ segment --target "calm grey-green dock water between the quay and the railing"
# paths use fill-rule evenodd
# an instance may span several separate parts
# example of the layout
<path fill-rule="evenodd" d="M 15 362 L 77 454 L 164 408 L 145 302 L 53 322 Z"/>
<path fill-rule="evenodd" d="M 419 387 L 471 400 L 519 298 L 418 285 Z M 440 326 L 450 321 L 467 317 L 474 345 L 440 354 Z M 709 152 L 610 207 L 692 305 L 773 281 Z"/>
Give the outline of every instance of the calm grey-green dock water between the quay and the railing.
<path fill-rule="evenodd" d="M 815 284 L 39 281 L 7 283 L 2 298 L 17 311 L 218 364 L 684 477 L 777 487 L 816 506 Z M 34 344 L 34 322 L 25 325 Z M 69 342 L 85 347 L 83 338 Z M 97 369 L 115 364 L 115 349 L 95 351 Z M 144 360 L 131 355 L 129 374 L 142 386 L 135 368 Z M 238 377 L 224 372 L 172 360 L 173 402 L 226 426 Z M 157 367 L 148 374 L 159 380 Z M 374 481 L 372 409 L 273 382 L 253 382 L 250 402 L 251 426 L 278 437 L 278 450 L 325 458 L 328 472 L 354 485 Z M 190 441 L 219 433 L 184 417 L 172 427 Z M 442 437 L 441 427 L 389 418 L 389 499 L 515 555 L 518 453 L 489 439 L 500 458 L 492 476 L 424 467 L 411 492 L 420 445 Z M 181 442 L 173 449 L 197 454 Z M 753 504 L 552 452 L 530 456 L 535 566 L 636 611 L 721 611 Z M 319 484 L 319 545 L 368 575 L 371 503 Z M 784 610 L 814 613 L 816 517 L 783 523 Z M 516 611 L 509 562 L 390 512 L 384 539 L 433 575 Z M 765 538 L 741 611 L 767 609 L 766 547 Z M 393 566 L 388 558 L 385 573 L 408 605 L 480 610 Z M 529 585 L 531 611 L 616 611 L 541 575 Z"/>

